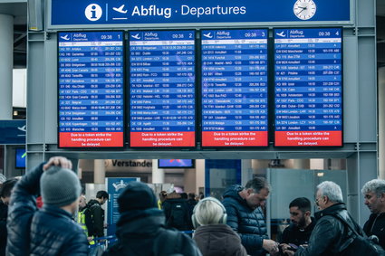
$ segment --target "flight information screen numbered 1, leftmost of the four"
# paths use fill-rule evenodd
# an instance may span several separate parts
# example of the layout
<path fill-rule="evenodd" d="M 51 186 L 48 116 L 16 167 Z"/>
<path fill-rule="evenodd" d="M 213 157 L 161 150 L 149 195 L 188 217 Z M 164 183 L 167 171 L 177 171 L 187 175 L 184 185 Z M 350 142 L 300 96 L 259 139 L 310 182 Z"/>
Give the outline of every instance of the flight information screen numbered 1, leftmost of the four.
<path fill-rule="evenodd" d="M 123 147 L 123 33 L 63 32 L 59 147 Z"/>

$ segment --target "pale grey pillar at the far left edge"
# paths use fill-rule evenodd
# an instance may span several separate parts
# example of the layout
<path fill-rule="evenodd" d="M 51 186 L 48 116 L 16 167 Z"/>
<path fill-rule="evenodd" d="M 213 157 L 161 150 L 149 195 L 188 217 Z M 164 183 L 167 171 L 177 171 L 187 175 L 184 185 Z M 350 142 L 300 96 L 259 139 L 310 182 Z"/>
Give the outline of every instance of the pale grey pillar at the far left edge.
<path fill-rule="evenodd" d="M 0 119 L 12 119 L 14 17 L 0 14 Z"/>

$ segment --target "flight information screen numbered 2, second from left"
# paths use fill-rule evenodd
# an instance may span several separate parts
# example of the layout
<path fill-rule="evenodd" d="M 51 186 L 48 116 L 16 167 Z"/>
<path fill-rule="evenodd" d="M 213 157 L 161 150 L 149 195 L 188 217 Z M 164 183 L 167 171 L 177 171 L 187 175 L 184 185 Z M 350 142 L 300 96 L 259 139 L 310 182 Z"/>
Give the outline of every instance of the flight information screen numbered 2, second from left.
<path fill-rule="evenodd" d="M 130 147 L 195 147 L 195 32 L 130 32 Z"/>

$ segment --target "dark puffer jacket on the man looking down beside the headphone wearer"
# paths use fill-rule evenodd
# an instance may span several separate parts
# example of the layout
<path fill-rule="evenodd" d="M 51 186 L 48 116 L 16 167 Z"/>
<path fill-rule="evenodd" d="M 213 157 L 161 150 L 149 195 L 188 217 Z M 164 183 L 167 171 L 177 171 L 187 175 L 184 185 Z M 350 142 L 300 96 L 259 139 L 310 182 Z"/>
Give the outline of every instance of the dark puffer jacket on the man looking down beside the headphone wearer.
<path fill-rule="evenodd" d="M 239 234 L 249 255 L 265 255 L 262 244 L 268 236 L 264 213 L 261 208 L 251 209 L 238 194 L 241 190 L 241 185 L 233 185 L 223 194 L 222 204 L 226 208 L 227 224 Z"/>

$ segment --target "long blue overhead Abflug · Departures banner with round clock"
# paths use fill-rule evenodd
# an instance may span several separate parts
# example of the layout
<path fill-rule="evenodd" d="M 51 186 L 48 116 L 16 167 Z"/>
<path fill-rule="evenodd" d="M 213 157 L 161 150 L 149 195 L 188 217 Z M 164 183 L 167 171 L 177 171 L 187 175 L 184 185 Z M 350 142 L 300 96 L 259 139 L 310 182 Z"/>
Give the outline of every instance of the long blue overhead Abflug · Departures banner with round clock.
<path fill-rule="evenodd" d="M 51 25 L 351 22 L 351 0 L 51 0 Z"/>

